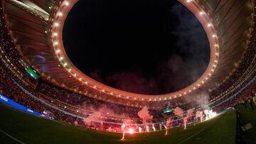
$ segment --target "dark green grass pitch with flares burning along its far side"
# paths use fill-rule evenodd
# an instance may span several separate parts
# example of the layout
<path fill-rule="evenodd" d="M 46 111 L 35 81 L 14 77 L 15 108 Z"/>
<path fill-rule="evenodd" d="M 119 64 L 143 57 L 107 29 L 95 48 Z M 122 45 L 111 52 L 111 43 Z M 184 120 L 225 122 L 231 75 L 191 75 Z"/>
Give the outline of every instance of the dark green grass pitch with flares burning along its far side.
<path fill-rule="evenodd" d="M 23 143 L 235 143 L 236 119 L 234 111 L 183 128 L 126 135 L 86 130 L 57 121 L 33 116 L 0 104 L 0 129 Z M 0 143 L 16 143 L 0 131 Z"/>

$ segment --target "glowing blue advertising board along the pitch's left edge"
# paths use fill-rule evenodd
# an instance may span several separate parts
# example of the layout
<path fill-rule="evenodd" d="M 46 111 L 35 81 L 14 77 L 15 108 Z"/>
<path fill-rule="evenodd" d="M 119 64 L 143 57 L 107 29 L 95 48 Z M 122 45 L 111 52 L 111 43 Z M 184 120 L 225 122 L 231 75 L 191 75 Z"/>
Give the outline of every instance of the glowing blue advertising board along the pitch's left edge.
<path fill-rule="evenodd" d="M 44 115 L 42 113 L 38 113 L 37 111 L 33 111 L 32 109 L 28 109 L 27 107 L 22 106 L 21 104 L 18 104 L 16 102 L 12 101 L 11 99 L 7 98 L 3 94 L 0 94 L 0 101 L 3 102 L 4 104 L 9 105 L 9 106 L 13 106 L 14 108 L 19 109 L 21 111 L 26 111 L 26 112 L 32 113 L 36 116 L 43 116 L 44 117 Z"/>

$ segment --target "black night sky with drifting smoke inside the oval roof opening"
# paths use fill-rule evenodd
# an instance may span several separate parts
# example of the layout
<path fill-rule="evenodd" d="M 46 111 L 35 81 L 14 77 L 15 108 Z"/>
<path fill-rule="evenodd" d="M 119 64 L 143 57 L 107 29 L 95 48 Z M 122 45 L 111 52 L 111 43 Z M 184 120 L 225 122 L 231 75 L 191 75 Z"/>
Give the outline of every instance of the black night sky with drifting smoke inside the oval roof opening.
<path fill-rule="evenodd" d="M 65 21 L 63 43 L 89 77 L 138 94 L 183 89 L 210 59 L 201 23 L 173 0 L 80 0 Z"/>

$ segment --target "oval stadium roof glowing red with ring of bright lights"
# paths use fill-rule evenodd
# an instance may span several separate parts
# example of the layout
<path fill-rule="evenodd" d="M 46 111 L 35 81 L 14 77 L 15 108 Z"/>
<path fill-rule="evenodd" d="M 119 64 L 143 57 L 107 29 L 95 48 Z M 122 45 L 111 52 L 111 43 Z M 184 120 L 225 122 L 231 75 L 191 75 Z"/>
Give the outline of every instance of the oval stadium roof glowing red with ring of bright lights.
<path fill-rule="evenodd" d="M 156 102 L 162 104 L 179 96 L 208 92 L 225 82 L 235 72 L 255 35 L 255 1 L 179 1 L 194 13 L 205 29 L 210 42 L 210 63 L 196 82 L 178 92 L 163 95 L 134 94 L 108 87 L 90 79 L 72 64 L 63 47 L 62 30 L 77 0 L 1 2 L 18 50 L 42 79 L 95 99 L 154 108 Z"/>

